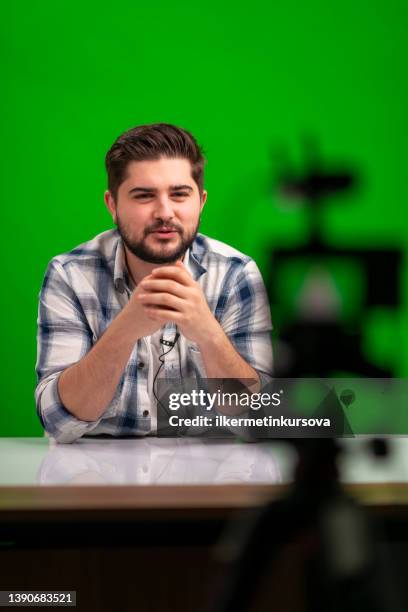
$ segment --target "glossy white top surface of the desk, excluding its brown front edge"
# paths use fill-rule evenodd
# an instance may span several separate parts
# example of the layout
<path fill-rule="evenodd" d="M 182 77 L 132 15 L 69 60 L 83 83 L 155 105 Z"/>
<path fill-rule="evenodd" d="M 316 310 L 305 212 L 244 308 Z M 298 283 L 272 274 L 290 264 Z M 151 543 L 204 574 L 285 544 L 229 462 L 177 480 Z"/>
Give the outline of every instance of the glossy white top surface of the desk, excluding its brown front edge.
<path fill-rule="evenodd" d="M 389 440 L 373 457 L 366 439 L 341 441 L 340 477 L 347 483 L 408 482 L 408 438 Z M 282 441 L 245 444 L 194 438 L 0 439 L 1 485 L 275 484 L 292 479 L 295 452 Z"/>

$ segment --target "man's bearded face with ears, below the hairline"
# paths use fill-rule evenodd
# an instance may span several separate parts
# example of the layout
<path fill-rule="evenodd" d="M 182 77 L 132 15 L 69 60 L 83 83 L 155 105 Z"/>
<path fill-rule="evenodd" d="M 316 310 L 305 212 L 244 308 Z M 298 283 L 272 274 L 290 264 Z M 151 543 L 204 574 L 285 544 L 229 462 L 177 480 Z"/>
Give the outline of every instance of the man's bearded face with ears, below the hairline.
<path fill-rule="evenodd" d="M 189 160 L 163 157 L 130 162 L 116 203 L 109 192 L 105 202 L 129 251 L 161 264 L 177 261 L 192 244 L 206 196 L 200 199 Z"/>

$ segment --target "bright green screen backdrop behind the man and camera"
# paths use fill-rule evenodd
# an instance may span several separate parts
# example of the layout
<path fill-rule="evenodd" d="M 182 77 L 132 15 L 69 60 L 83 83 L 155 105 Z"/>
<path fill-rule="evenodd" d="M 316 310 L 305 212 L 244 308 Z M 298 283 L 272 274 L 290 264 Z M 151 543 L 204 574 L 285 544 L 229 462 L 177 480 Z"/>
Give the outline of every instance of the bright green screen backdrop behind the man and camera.
<path fill-rule="evenodd" d="M 304 134 L 362 177 L 328 202 L 327 241 L 406 252 L 402 0 L 24 1 L 2 12 L 0 435 L 42 435 L 33 392 L 44 271 L 112 226 L 104 155 L 134 125 L 196 135 L 208 158 L 201 229 L 253 256 L 266 277 L 270 249 L 305 236 L 304 211 L 282 208 L 271 189 L 271 149 L 301 168 Z M 376 309 L 364 329 L 367 354 L 397 376 L 408 375 L 407 278 L 405 265 L 402 309 Z"/>

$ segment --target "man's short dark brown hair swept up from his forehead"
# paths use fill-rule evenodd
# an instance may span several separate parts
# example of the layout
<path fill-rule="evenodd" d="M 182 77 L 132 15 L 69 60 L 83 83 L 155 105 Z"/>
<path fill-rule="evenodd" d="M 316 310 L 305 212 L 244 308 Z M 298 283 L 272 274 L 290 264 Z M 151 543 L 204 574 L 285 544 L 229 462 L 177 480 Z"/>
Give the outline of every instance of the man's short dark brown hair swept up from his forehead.
<path fill-rule="evenodd" d="M 204 189 L 205 158 L 194 136 L 169 123 L 139 125 L 119 136 L 106 154 L 108 189 L 116 200 L 118 189 L 126 179 L 126 169 L 132 161 L 156 160 L 160 157 L 188 159 L 191 176 L 200 196 Z"/>

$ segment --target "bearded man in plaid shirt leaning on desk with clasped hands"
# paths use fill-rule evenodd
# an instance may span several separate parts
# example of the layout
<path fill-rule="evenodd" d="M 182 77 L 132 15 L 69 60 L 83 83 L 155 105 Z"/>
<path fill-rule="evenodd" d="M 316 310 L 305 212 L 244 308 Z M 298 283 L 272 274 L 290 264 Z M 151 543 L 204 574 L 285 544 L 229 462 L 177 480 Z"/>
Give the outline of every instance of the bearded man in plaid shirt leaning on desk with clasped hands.
<path fill-rule="evenodd" d="M 272 369 L 256 264 L 197 233 L 207 192 L 193 136 L 136 127 L 106 169 L 117 229 L 54 257 L 40 294 L 36 403 L 59 442 L 155 433 L 159 375 L 262 384 Z"/>

